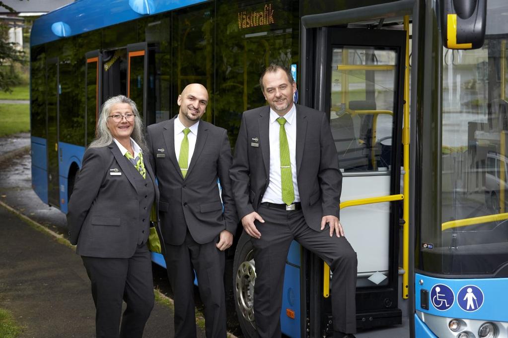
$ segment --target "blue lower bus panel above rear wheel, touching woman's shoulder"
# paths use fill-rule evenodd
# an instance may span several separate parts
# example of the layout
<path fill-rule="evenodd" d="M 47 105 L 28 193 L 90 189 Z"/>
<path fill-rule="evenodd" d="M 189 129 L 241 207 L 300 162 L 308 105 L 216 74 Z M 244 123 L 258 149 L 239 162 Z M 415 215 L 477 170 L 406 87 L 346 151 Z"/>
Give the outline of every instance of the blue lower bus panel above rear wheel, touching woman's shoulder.
<path fill-rule="evenodd" d="M 85 154 L 85 147 L 65 142 L 58 142 L 58 174 L 60 185 L 60 210 L 67 213 L 68 194 L 69 189 L 69 169 L 73 163 L 76 163 L 81 168 L 81 159 Z"/>

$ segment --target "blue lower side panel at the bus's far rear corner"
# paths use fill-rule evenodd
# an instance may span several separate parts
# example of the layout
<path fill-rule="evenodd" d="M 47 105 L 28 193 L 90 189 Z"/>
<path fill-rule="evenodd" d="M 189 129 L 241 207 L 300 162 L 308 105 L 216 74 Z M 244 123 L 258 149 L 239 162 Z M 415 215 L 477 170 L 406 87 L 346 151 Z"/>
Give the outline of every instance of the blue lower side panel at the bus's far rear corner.
<path fill-rule="evenodd" d="M 31 137 L 32 187 L 44 203 L 48 203 L 48 163 L 46 159 L 46 139 Z"/>

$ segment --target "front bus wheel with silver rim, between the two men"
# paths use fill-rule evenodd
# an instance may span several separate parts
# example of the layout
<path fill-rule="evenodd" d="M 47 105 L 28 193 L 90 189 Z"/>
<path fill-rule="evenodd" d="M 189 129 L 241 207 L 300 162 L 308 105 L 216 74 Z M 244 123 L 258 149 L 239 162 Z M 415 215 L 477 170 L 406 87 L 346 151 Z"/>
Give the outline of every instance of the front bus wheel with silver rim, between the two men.
<path fill-rule="evenodd" d="M 233 262 L 233 294 L 238 322 L 246 337 L 256 336 L 254 321 L 254 283 L 256 281 L 256 264 L 250 236 L 242 233 L 236 246 Z"/>

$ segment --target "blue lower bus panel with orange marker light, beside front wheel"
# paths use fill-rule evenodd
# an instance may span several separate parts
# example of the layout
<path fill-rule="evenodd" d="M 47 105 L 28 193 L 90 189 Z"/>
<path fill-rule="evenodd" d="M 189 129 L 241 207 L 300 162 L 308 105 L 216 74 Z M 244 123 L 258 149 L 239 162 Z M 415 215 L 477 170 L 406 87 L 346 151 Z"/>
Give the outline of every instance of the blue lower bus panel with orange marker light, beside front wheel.
<path fill-rule="evenodd" d="M 284 272 L 282 289 L 282 310 L 280 327 L 282 333 L 290 337 L 299 337 L 301 332 L 300 307 L 300 260 L 301 247 L 298 242 L 291 243 Z"/>

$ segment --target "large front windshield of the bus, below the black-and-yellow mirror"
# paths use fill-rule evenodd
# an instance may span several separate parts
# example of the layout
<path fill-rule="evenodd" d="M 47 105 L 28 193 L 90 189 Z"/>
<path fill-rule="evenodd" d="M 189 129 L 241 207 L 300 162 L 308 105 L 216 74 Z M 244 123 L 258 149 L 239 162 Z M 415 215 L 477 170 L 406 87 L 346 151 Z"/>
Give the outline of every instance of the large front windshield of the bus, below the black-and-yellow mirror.
<path fill-rule="evenodd" d="M 427 271 L 495 274 L 508 257 L 507 14 L 489 1 L 483 47 L 442 50 L 441 219 L 422 232 Z"/>

